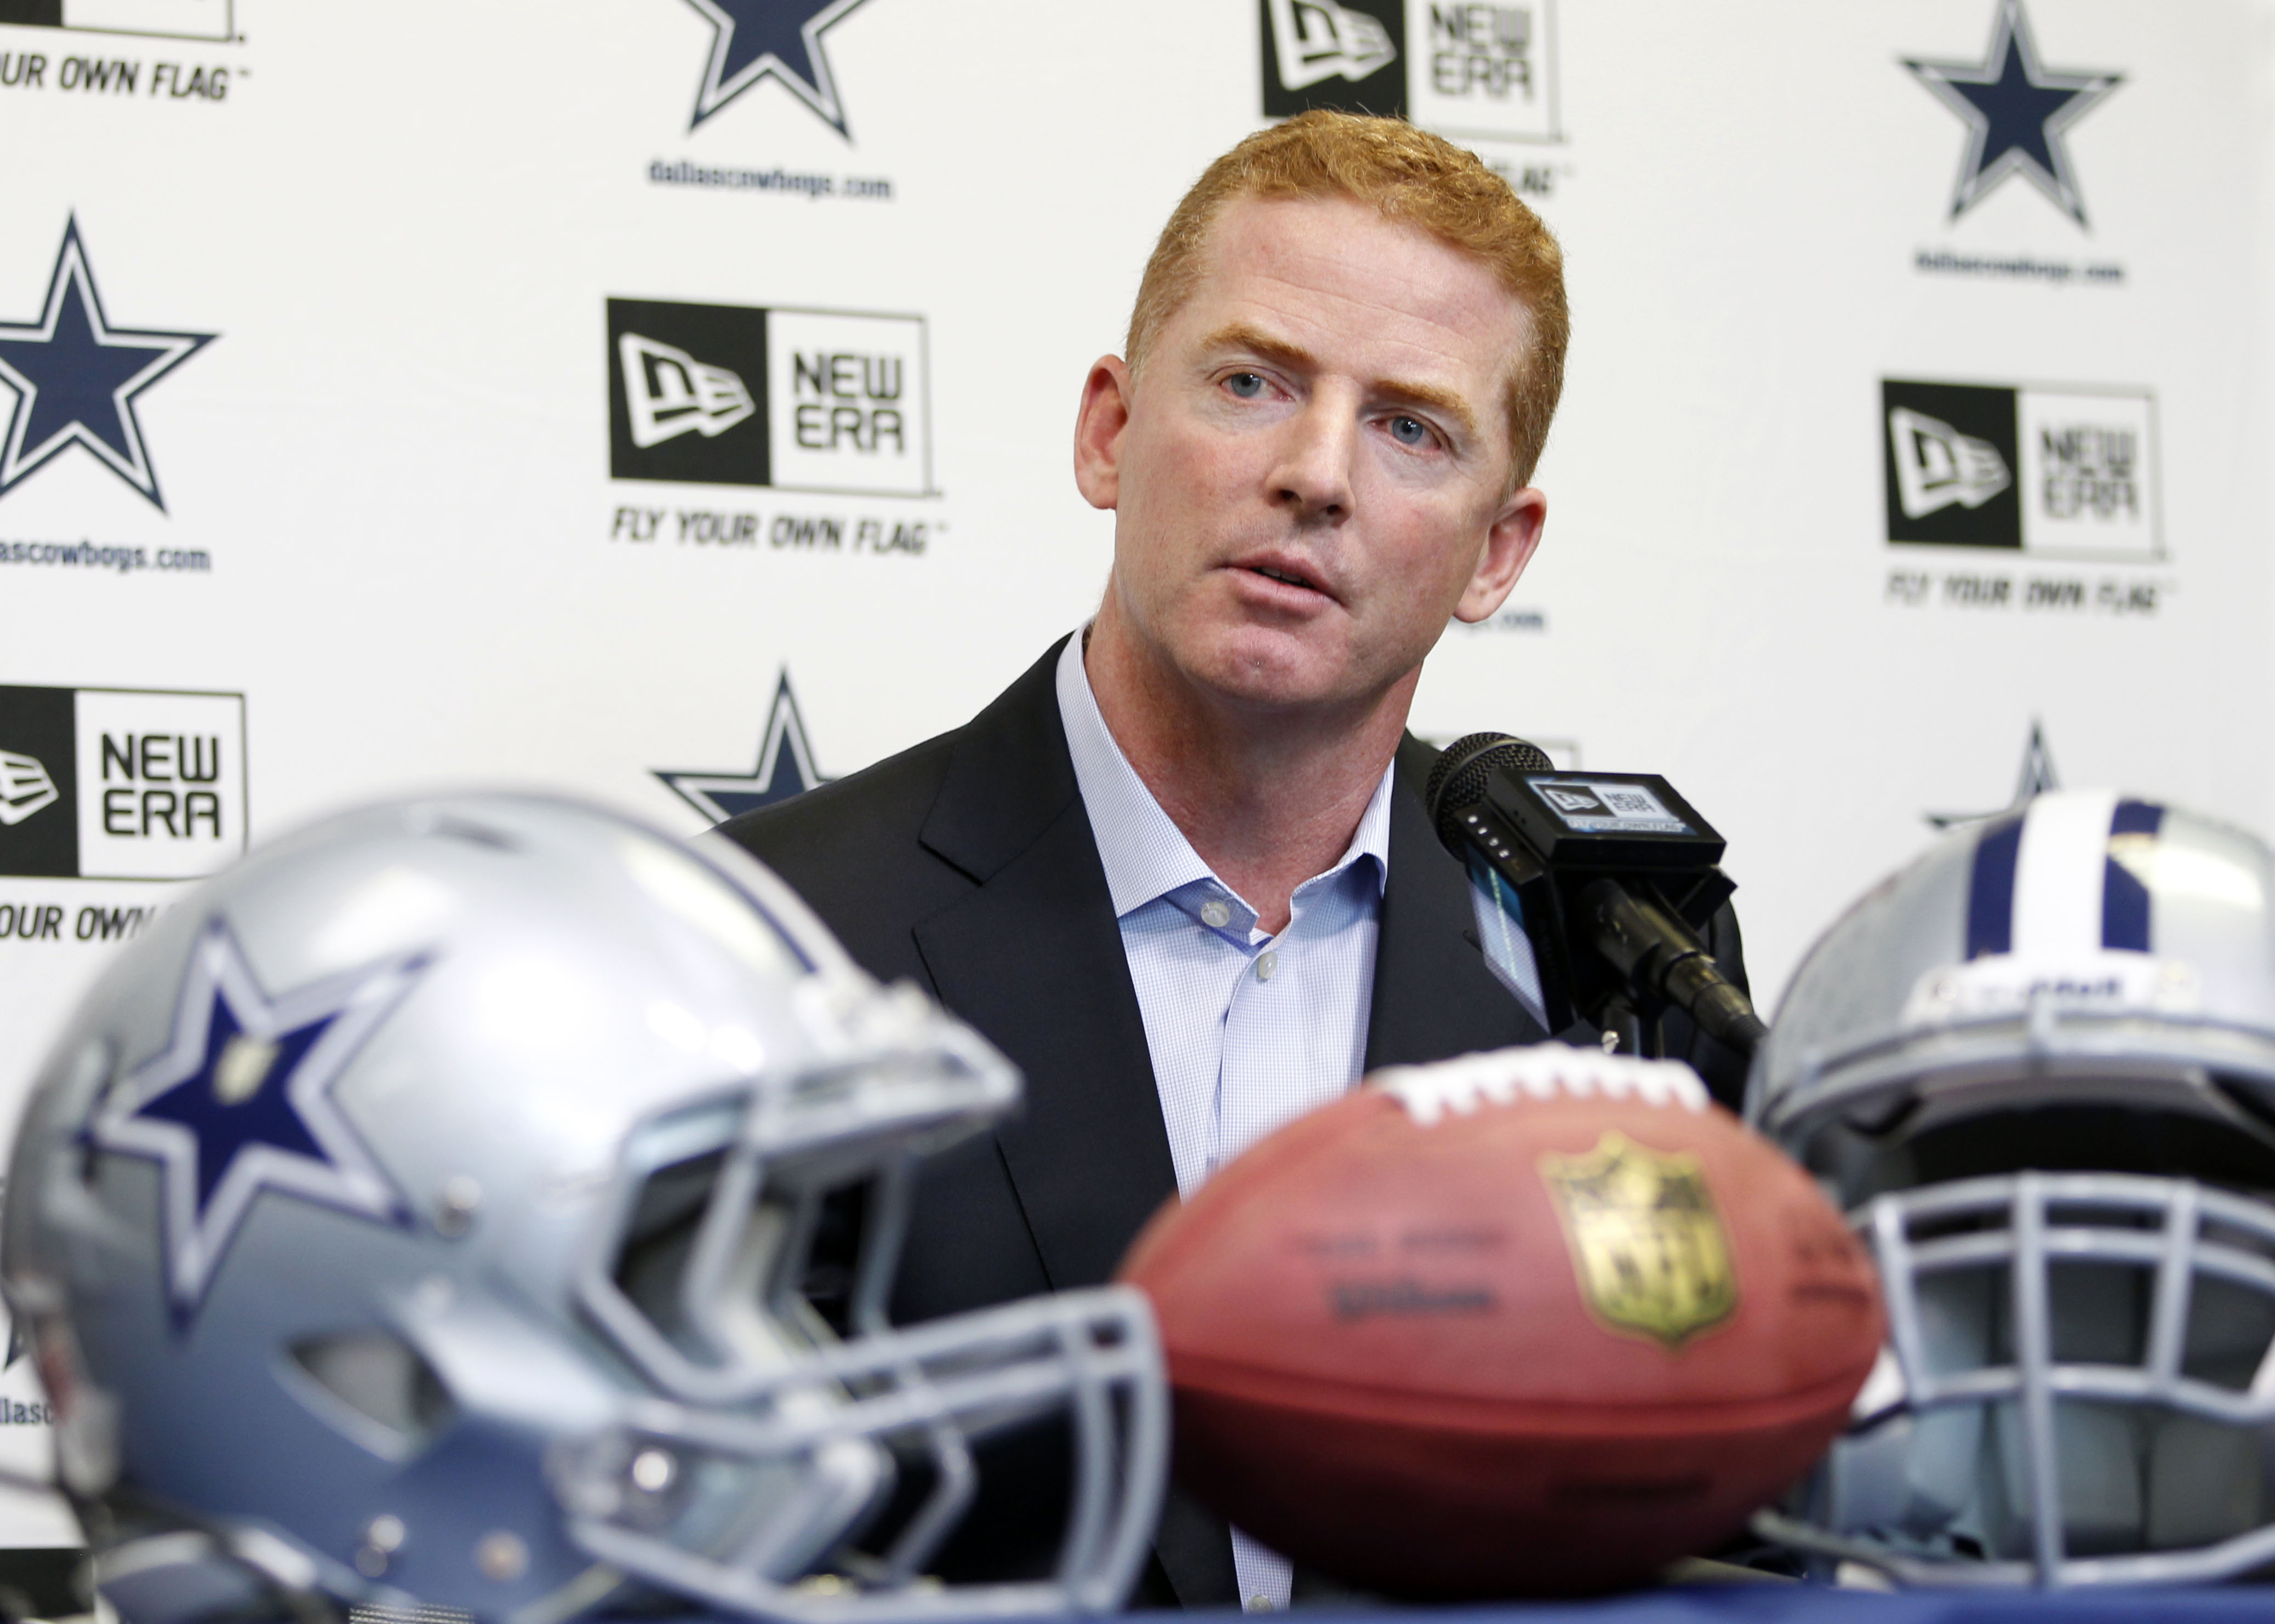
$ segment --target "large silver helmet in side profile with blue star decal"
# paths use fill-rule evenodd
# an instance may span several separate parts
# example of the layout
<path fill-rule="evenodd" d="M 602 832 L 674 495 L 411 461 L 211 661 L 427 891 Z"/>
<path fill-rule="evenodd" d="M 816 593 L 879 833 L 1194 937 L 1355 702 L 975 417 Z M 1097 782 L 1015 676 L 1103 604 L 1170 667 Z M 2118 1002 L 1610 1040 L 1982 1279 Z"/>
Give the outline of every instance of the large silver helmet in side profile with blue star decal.
<path fill-rule="evenodd" d="M 1144 1299 L 885 1321 L 915 1158 L 1017 1092 L 723 844 L 496 794 L 257 851 L 121 953 L 16 1140 L 98 1583 L 143 1624 L 1119 1606 Z M 928 1579 L 1019 1426 L 1072 1440 L 1056 1572 Z"/>

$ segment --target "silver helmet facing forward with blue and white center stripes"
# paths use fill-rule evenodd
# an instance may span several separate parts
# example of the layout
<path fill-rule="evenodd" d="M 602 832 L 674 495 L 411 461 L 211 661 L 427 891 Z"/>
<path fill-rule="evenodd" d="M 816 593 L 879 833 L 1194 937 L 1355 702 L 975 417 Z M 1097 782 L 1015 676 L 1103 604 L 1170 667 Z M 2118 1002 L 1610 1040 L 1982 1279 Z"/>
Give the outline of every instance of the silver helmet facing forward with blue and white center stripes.
<path fill-rule="evenodd" d="M 2113 794 L 1947 837 L 1811 948 L 1749 1121 L 1888 1303 L 1763 1533 L 1902 1583 L 2275 1565 L 2275 857 Z"/>

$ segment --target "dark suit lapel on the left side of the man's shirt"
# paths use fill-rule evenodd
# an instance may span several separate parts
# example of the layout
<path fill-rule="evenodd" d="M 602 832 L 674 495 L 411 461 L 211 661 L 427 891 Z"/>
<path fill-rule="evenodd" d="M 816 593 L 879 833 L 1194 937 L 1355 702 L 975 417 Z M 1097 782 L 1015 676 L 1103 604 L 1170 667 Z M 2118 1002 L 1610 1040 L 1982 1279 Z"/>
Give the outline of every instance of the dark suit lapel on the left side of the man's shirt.
<path fill-rule="evenodd" d="M 915 937 L 940 1001 L 1028 1078 L 996 1142 L 1051 1287 L 1072 1290 L 1112 1276 L 1176 1169 L 1058 716 L 1060 646 L 958 737 L 921 839 L 976 889 Z"/>

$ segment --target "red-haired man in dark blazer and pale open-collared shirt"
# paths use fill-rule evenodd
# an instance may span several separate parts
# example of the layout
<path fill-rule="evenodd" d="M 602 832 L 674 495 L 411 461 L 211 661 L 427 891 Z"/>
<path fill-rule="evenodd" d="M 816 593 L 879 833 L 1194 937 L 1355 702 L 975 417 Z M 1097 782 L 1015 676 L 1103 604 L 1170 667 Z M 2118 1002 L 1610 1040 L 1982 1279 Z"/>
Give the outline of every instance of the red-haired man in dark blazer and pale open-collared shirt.
<path fill-rule="evenodd" d="M 1540 544 L 1565 332 L 1556 241 L 1476 157 L 1322 111 L 1249 136 L 1083 387 L 1076 482 L 1115 512 L 1087 632 L 723 826 L 1026 1071 L 1026 1117 L 926 1174 L 896 1317 L 1103 1281 L 1363 1071 L 1549 1037 L 1479 955 L 1404 728 L 1447 621 Z M 1160 1604 L 1294 1588 L 1181 1499 L 1156 1556 Z"/>

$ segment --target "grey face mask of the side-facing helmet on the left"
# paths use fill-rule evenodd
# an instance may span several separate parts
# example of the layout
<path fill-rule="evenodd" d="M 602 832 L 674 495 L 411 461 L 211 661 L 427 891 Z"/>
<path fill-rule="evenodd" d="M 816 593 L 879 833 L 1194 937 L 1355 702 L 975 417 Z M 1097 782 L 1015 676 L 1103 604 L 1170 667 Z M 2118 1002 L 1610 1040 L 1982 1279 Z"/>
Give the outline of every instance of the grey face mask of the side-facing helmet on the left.
<path fill-rule="evenodd" d="M 930 1080 L 960 1087 L 946 1071 Z M 871 1076 L 903 1099 L 928 1080 L 905 1055 Z M 842 1071 L 828 1083 L 846 1087 Z M 1117 1499 L 1142 1465 L 1126 1458 L 1133 1440 L 1165 1419 L 1158 1387 L 1140 1381 L 1158 1358 L 1144 1315 L 1119 1292 L 1083 1292 L 892 1331 L 903 1144 L 937 1133 L 940 1112 L 851 1142 L 803 1133 L 805 1149 L 783 1153 L 769 1151 L 778 1108 L 764 1096 L 739 1105 L 708 1101 L 630 1140 L 621 1224 L 578 1296 L 662 1397 L 551 1460 L 573 1538 L 714 1606 L 833 1615 L 853 1583 L 894 1590 L 921 1576 L 971 1503 L 976 1442 L 1069 1412 L 1094 1463 L 1069 1483 L 1072 1567 L 1101 1567 L 1108 1542 L 1133 1533 L 1142 1551 L 1149 1528 Z M 796 1463 L 810 1463 L 796 1494 L 748 1492 Z M 753 1503 L 778 1515 L 753 1519 Z M 839 1572 L 801 1592 L 799 1576 L 824 1558 Z M 1006 1585 L 987 1604 L 1053 1599 L 1106 1608 L 1119 1594 Z"/>

